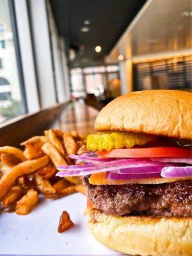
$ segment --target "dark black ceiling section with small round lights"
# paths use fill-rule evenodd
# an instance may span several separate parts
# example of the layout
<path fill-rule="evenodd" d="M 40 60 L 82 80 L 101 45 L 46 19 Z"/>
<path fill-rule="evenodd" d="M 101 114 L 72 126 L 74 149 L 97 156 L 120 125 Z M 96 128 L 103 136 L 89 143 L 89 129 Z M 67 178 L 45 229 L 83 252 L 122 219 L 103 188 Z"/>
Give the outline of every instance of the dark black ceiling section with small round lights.
<path fill-rule="evenodd" d="M 76 51 L 71 67 L 100 65 L 146 0 L 50 0 L 52 13 L 67 49 Z M 84 25 L 84 20 L 90 24 Z M 90 31 L 81 32 L 83 26 Z M 102 51 L 95 52 L 100 45 Z M 81 49 L 81 50 L 80 50 Z"/>

